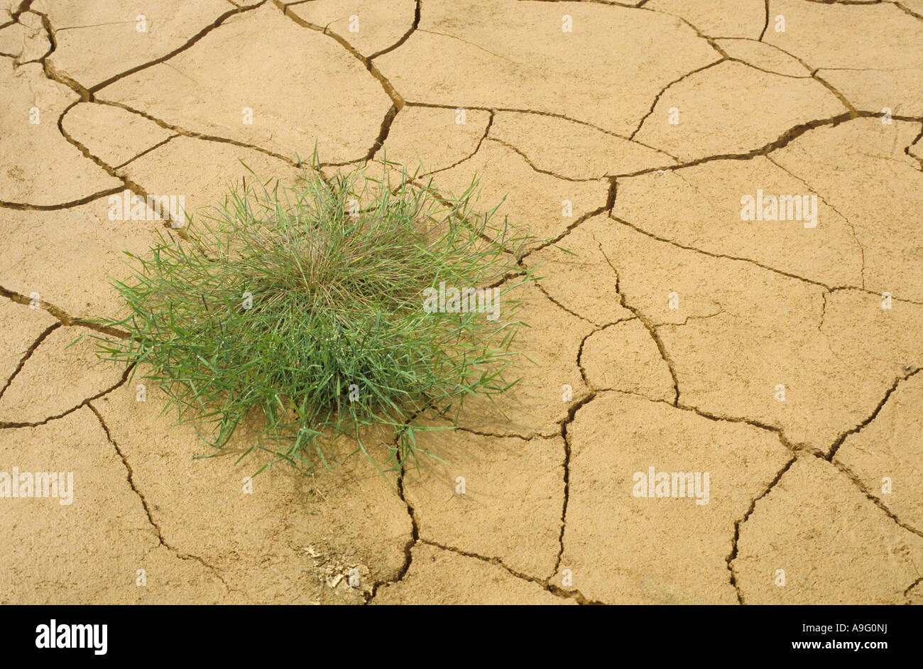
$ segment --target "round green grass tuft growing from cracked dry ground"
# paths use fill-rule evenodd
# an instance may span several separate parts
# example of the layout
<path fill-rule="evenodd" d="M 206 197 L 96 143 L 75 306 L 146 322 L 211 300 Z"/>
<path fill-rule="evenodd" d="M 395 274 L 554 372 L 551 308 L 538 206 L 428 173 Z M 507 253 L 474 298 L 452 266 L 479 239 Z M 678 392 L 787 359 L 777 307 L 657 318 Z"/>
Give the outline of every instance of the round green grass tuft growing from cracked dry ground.
<path fill-rule="evenodd" d="M 246 452 L 276 458 L 259 471 L 327 466 L 324 440 L 341 434 L 380 472 L 416 460 L 426 451 L 415 415 L 457 419 L 466 398 L 515 383 L 504 373 L 522 324 L 509 293 L 532 277 L 517 265 L 527 237 L 494 224 L 496 207 L 473 211 L 476 182 L 447 197 L 414 176 L 386 163 L 378 179 L 356 169 L 328 180 L 305 170 L 293 186 L 245 180 L 185 239 L 162 233 L 148 256 L 127 254 L 133 277 L 114 281 L 126 311 L 97 322 L 130 336 L 100 338 L 101 356 L 135 364 L 181 421 L 210 427 L 216 448 L 260 412 L 265 429 Z M 502 317 L 427 312 L 425 289 L 443 281 L 502 284 Z M 374 424 L 398 432 L 388 462 L 363 444 Z"/>

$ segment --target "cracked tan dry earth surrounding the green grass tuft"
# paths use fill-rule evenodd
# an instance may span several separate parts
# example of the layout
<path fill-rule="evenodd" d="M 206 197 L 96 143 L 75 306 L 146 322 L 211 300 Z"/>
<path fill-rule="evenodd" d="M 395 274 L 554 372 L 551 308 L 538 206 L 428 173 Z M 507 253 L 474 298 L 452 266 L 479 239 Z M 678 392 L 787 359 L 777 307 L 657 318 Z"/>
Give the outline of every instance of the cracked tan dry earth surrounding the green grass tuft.
<path fill-rule="evenodd" d="M 73 473 L 0 478 L 0 602 L 923 602 L 923 2 L 636 5 L 0 0 L 0 471 Z M 109 196 L 316 144 L 506 196 L 534 364 L 250 488 L 71 344 L 169 225 Z"/>

